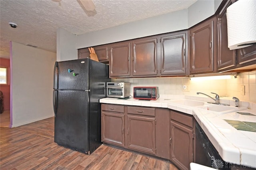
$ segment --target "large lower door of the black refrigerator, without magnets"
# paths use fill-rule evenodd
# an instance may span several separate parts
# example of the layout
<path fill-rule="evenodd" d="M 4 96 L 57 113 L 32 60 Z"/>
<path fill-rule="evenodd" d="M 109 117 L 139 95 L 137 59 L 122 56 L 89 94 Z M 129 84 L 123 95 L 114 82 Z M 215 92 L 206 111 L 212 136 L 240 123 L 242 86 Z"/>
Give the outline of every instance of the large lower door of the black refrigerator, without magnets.
<path fill-rule="evenodd" d="M 54 91 L 54 142 L 87 153 L 89 151 L 88 92 Z"/>

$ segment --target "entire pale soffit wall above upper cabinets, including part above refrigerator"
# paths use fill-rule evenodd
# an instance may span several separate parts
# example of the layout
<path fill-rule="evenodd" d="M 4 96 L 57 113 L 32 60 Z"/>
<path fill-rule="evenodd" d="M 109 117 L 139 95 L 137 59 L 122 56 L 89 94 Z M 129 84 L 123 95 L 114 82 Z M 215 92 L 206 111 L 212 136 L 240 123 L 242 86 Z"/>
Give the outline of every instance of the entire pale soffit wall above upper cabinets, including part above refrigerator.
<path fill-rule="evenodd" d="M 220 0 L 198 0 L 188 9 L 83 35 L 57 30 L 57 61 L 77 59 L 77 49 L 188 29 L 214 15 Z M 124 18 L 125 20 L 125 18 Z"/>

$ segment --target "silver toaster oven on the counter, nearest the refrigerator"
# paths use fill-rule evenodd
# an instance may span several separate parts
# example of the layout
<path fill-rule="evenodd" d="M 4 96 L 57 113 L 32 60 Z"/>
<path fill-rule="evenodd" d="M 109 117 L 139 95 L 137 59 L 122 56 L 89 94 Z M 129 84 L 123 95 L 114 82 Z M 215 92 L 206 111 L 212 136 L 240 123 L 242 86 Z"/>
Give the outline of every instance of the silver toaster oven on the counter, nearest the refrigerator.
<path fill-rule="evenodd" d="M 126 98 L 130 96 L 130 83 L 125 82 L 107 82 L 107 97 Z"/>

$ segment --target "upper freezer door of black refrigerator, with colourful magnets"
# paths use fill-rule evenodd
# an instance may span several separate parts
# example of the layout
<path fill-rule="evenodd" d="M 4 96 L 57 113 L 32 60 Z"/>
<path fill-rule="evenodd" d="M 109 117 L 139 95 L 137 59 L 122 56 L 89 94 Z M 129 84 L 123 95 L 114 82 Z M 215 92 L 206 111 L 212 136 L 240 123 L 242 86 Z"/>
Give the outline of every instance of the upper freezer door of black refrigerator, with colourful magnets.
<path fill-rule="evenodd" d="M 54 68 L 54 89 L 90 89 L 89 63 L 89 59 L 56 62 Z"/>

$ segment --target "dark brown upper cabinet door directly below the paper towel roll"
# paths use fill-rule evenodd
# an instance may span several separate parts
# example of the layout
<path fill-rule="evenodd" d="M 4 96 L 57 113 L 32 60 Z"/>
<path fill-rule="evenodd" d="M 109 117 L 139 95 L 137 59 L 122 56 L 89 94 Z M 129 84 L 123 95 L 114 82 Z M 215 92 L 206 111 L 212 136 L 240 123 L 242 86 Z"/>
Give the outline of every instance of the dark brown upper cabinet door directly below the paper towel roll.
<path fill-rule="evenodd" d="M 253 62 L 256 64 L 256 44 L 237 50 L 239 64 Z"/>

